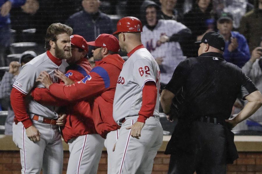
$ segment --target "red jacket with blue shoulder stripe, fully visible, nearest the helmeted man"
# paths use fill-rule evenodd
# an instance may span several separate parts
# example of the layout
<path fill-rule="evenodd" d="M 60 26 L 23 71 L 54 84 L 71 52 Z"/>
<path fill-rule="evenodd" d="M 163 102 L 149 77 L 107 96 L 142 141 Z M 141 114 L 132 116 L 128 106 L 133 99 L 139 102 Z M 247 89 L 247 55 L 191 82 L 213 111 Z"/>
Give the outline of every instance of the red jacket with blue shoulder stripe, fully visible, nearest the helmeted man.
<path fill-rule="evenodd" d="M 93 98 L 90 102 L 96 131 L 103 137 L 118 129 L 113 119 L 113 101 L 118 76 L 124 60 L 118 54 L 108 55 L 81 81 L 72 85 L 52 84 L 52 95 L 67 101 Z"/>

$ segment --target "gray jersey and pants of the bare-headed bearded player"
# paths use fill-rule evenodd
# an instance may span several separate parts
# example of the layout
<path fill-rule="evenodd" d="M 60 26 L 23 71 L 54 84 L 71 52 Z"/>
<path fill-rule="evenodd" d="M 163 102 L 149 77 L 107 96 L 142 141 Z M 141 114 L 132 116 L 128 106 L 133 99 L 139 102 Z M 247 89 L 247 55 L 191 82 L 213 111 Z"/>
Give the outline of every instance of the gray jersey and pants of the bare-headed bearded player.
<path fill-rule="evenodd" d="M 13 87 L 22 94 L 27 95 L 32 88 L 43 87 L 41 83 L 36 82 L 36 78 L 41 71 L 47 71 L 53 82 L 57 82 L 58 78 L 54 76 L 54 70 L 59 69 L 64 73 L 66 66 L 68 64 L 64 60 L 54 58 L 47 51 L 22 67 Z M 26 109 L 30 117 L 39 115 L 38 121 L 33 120 L 33 125 L 41 135 L 39 142 L 33 142 L 27 138 L 22 122 L 13 123 L 13 141 L 20 148 L 22 173 L 40 173 L 41 168 L 43 168 L 44 174 L 62 173 L 63 146 L 59 126 L 43 123 L 44 118 L 57 119 L 58 108 L 39 104 L 29 95 L 26 101 L 28 102 L 28 108 Z M 12 105 L 12 107 L 15 106 Z"/>

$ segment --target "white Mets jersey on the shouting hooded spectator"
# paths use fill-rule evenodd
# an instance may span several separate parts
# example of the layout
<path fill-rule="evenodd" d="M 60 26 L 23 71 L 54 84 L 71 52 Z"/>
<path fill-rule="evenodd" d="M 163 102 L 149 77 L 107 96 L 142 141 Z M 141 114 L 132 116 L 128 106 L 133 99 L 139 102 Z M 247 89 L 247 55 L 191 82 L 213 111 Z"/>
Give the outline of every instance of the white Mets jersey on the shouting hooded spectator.
<path fill-rule="evenodd" d="M 163 59 L 160 65 L 161 83 L 167 84 L 172 78 L 176 66 L 185 59 L 178 42 L 160 42 L 160 36 L 166 35 L 168 37 L 178 33 L 187 27 L 175 20 L 158 20 L 156 27 L 152 30 L 146 26 L 143 27 L 141 33 L 141 41 L 145 48 L 156 59 L 161 57 Z"/>

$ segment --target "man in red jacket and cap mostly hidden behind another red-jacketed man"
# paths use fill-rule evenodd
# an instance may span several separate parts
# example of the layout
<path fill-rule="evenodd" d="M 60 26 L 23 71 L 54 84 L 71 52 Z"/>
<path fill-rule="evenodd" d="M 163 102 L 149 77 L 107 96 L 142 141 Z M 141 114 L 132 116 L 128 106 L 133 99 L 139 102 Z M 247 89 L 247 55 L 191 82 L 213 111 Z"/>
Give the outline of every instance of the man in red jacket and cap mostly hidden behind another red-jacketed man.
<path fill-rule="evenodd" d="M 82 80 L 92 69 L 86 59 L 88 53 L 86 40 L 79 35 L 72 35 L 70 38 L 72 57 L 67 60 L 70 64 L 67 68 L 69 70 L 65 75 L 56 71 L 56 76 L 64 81 L 60 84 L 65 85 Z M 68 143 L 70 152 L 67 173 L 97 173 L 105 139 L 95 131 L 89 103 L 61 101 L 46 88 L 34 89 L 32 96 L 37 102 L 53 106 L 68 104 L 65 109 L 67 114 L 65 126 L 61 127 L 63 139 Z"/>

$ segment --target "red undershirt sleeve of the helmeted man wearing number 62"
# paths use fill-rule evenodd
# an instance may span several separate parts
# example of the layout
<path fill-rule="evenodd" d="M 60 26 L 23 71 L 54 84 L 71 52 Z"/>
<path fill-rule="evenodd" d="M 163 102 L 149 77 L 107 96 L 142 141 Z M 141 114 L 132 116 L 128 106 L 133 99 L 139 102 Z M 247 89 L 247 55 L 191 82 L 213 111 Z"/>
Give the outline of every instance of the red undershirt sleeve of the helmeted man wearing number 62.
<path fill-rule="evenodd" d="M 146 119 L 153 116 L 157 99 L 157 87 L 154 81 L 145 83 L 142 90 L 142 106 L 138 113 L 138 122 L 146 122 Z"/>

